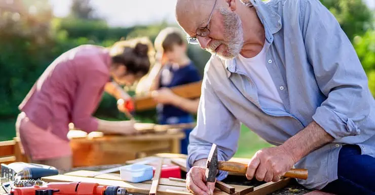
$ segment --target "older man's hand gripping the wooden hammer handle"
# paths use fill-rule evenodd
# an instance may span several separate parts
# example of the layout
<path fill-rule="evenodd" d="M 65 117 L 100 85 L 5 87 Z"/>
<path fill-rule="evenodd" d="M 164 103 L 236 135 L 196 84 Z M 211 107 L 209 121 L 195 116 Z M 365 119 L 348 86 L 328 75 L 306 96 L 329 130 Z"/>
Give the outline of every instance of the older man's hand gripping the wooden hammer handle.
<path fill-rule="evenodd" d="M 282 146 L 258 151 L 250 160 L 246 177 L 258 181 L 276 182 L 295 164 L 294 158 Z"/>

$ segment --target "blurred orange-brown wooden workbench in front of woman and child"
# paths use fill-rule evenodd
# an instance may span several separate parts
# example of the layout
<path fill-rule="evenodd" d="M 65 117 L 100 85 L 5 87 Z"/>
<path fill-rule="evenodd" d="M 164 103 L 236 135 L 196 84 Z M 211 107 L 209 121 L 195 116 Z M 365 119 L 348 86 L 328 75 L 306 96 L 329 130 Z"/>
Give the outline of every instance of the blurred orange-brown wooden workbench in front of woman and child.
<path fill-rule="evenodd" d="M 137 135 L 89 134 L 70 130 L 68 138 L 73 153 L 73 167 L 124 163 L 157 153 L 180 153 L 180 140 L 185 137 L 179 129 Z"/>

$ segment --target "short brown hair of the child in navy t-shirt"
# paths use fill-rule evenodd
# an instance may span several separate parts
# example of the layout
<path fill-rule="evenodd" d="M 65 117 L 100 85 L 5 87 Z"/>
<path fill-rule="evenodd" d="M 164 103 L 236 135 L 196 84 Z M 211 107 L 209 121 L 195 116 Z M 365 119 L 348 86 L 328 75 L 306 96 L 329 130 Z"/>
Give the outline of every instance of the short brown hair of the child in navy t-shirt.
<path fill-rule="evenodd" d="M 175 27 L 167 27 L 160 31 L 155 39 L 155 48 L 158 51 L 171 52 L 173 45 L 185 43 L 181 30 Z"/>

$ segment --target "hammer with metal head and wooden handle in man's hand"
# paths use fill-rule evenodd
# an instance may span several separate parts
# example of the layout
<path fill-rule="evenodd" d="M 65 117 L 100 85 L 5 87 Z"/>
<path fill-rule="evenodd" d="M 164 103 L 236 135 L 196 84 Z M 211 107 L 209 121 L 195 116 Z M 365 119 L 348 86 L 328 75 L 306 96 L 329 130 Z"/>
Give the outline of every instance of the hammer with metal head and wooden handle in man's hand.
<path fill-rule="evenodd" d="M 207 159 L 206 173 L 205 173 L 208 182 L 215 182 L 217 170 L 245 174 L 247 171 L 247 164 L 237 163 L 237 162 L 217 161 L 217 145 L 212 144 L 212 148 Z M 290 171 L 285 173 L 284 177 L 307 179 L 308 171 L 307 169 L 291 169 Z"/>

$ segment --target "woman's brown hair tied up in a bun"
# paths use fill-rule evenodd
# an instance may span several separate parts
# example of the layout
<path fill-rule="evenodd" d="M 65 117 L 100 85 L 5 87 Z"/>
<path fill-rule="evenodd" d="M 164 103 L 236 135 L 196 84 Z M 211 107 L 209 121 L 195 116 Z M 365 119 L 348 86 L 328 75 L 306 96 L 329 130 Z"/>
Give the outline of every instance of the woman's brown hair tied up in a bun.
<path fill-rule="evenodd" d="M 110 56 L 113 63 L 123 64 L 129 73 L 145 75 L 154 64 L 155 51 L 147 37 L 139 37 L 115 42 Z"/>

